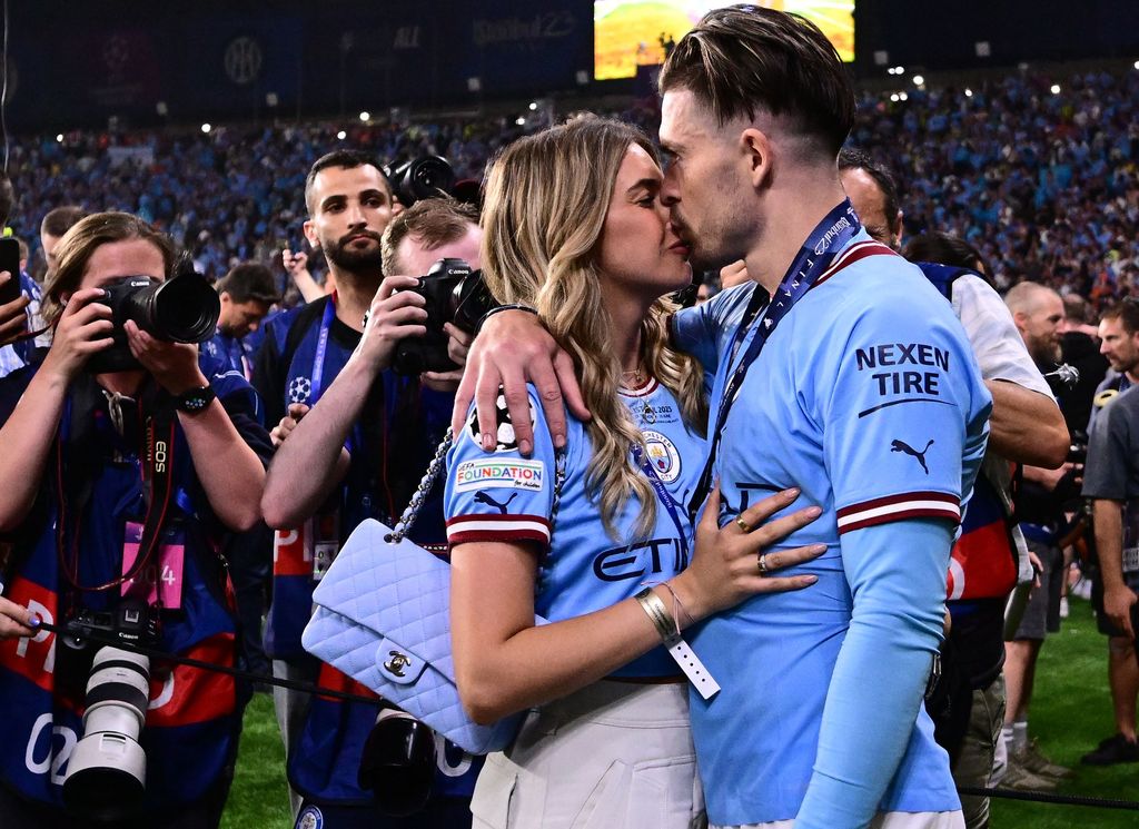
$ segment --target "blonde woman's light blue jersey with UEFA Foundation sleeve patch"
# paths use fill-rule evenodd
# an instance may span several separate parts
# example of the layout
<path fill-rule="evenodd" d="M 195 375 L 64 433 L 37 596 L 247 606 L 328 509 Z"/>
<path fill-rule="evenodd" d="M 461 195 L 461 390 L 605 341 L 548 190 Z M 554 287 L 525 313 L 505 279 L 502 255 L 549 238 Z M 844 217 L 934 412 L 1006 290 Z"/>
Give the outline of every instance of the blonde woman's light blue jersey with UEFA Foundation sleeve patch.
<path fill-rule="evenodd" d="M 605 532 L 599 507 L 585 491 L 591 442 L 581 421 L 573 417 L 567 422 L 565 481 L 556 519 L 551 520 L 557 459 L 546 420 L 535 416 L 541 407 L 533 387 L 531 458 L 518 452 L 501 396 L 495 451 L 482 450 L 472 417 L 448 457 L 448 540 L 452 545 L 472 541 L 534 542 L 541 555 L 534 612 L 551 622 L 611 607 L 636 596 L 645 584 L 663 582 L 688 566 L 694 528 L 685 504 L 699 479 L 707 445 L 685 424 L 672 393 L 655 380 L 639 393 L 622 393 L 622 401 L 645 436 L 649 462 L 675 502 L 672 512 L 677 522 L 664 504 L 657 503 L 656 525 L 648 537 L 636 537 L 633 531 L 640 510 L 636 499 L 620 510 L 614 522 L 616 537 Z M 656 648 L 614 675 L 677 673 L 667 651 Z"/>

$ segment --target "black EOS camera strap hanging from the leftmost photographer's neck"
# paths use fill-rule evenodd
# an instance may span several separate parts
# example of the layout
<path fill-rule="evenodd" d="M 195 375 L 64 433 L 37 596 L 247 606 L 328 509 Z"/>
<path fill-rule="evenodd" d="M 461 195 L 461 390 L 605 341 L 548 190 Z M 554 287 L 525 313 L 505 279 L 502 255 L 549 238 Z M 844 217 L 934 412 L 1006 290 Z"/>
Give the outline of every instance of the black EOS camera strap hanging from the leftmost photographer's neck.
<path fill-rule="evenodd" d="M 83 380 L 87 380 L 85 383 Z M 136 401 L 141 424 L 138 462 L 142 476 L 142 499 L 146 517 L 139 555 L 129 571 L 104 584 L 87 585 L 79 580 L 79 540 L 83 512 L 95 490 L 95 470 L 103 462 L 91 428 L 99 387 L 93 378 L 83 378 L 64 407 L 60 434 L 56 438 L 56 496 L 59 515 L 56 520 L 56 549 L 59 568 L 67 583 L 80 592 L 113 590 L 144 572 L 158 549 L 163 525 L 170 512 L 174 491 L 174 440 L 177 413 L 170 395 L 147 383 Z M 68 455 L 77 452 L 77 461 Z M 69 544 L 68 544 L 69 536 Z"/>

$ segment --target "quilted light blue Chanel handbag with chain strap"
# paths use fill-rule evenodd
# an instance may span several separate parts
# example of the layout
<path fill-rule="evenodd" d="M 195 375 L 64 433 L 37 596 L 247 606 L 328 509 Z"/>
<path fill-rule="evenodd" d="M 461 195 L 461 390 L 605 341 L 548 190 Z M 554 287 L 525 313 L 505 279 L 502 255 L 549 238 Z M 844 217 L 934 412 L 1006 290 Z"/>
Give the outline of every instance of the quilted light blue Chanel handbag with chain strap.
<path fill-rule="evenodd" d="M 450 445 L 449 433 L 394 530 L 366 520 L 349 536 L 312 594 L 316 612 L 301 641 L 466 752 L 487 754 L 509 745 L 522 714 L 478 725 L 462 709 L 451 658 L 451 568 L 405 537 Z M 555 514 L 563 479 L 558 463 Z"/>

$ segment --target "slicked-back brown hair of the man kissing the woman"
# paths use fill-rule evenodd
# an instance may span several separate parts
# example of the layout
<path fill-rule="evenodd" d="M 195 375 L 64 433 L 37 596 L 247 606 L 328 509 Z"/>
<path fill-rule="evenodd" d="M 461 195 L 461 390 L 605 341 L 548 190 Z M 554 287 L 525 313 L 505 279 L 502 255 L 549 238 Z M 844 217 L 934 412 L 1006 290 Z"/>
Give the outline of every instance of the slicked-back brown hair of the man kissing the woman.
<path fill-rule="evenodd" d="M 669 55 L 662 92 L 687 89 L 720 124 L 785 116 L 837 155 L 854 123 L 854 88 L 822 31 L 800 15 L 731 6 L 704 15 Z"/>

